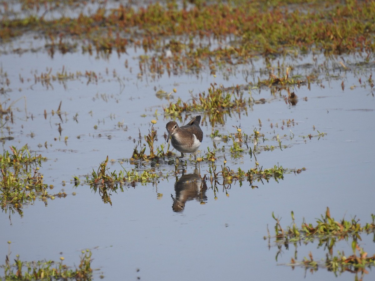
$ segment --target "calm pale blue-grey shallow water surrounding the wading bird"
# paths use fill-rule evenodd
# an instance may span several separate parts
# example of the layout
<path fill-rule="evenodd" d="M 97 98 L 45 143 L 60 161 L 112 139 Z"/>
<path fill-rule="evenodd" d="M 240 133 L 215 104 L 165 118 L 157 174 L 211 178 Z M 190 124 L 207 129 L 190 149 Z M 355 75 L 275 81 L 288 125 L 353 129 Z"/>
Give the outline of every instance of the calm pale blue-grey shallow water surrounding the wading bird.
<path fill-rule="evenodd" d="M 12 44 L 17 45 L 17 42 Z M 40 170 L 44 181 L 54 185 L 48 192 L 65 191 L 68 196 L 48 200 L 47 205 L 41 200 L 25 205 L 23 217 L 3 211 L 0 215 L 0 254 L 5 257 L 7 241 L 12 241 L 13 258 L 16 254 L 20 254 L 21 260 L 29 261 L 58 260 L 64 256 L 66 264 L 73 266 L 77 265 L 80 251 L 88 248 L 93 252 L 92 267 L 98 269 L 93 275 L 95 280 L 99 275 L 107 280 L 137 277 L 141 280 L 176 277 L 180 280 L 249 277 L 270 280 L 275 275 L 279 280 L 333 278 L 333 273 L 324 268 L 311 274 L 302 268 L 292 271 L 288 266 L 279 265 L 290 262 L 294 247 L 283 248 L 275 261 L 278 248 L 273 240 L 269 248 L 268 240 L 263 237 L 267 236 L 267 226 L 271 235 L 274 233 L 272 212 L 283 218 L 281 223 L 285 228 L 291 223 L 292 210 L 300 225 L 303 218 L 315 223 L 315 218 L 324 214 L 327 206 L 336 220 L 344 216 L 350 220 L 356 215 L 363 225 L 371 222 L 370 214 L 375 213 L 372 195 L 375 152 L 371 143 L 375 136 L 375 99 L 365 81 L 371 75 L 372 67 L 364 69 L 350 64 L 362 60 L 359 55 L 353 55 L 345 57 L 349 66 L 345 70 L 339 67 L 342 58 L 333 57 L 327 60 L 331 77 L 320 73 L 320 79 L 311 84 L 310 90 L 307 86 L 294 89 L 299 97 L 297 105 L 289 105 L 283 97 L 271 94 L 267 88 L 253 89 L 252 97 L 255 100 L 264 98 L 266 103 L 254 104 L 247 112 L 226 115 L 225 124 L 216 124 L 214 128 L 205 112 L 183 114 L 182 123 L 189 121 L 192 115 L 202 115 L 202 156 L 208 148 L 214 147 L 210 138 L 213 130 L 227 135 L 236 132 L 233 126 L 240 126 L 249 135 L 255 129 L 264 133 L 269 140 L 260 146 L 276 146 L 273 151 L 257 154 L 260 166 L 269 168 L 279 164 L 288 169 L 306 167 L 306 171 L 285 174 L 279 182 L 274 179 L 255 182 L 258 188 L 254 189 L 247 181 L 242 185 L 237 181 L 226 190 L 219 186 L 216 193 L 206 180 L 207 190 L 197 194 L 195 199 L 187 200 L 182 212 L 174 212 L 172 196 L 176 197 L 174 185 L 177 179 L 173 175 L 174 165 L 167 161 L 161 161 L 155 168 L 156 172 L 168 174 L 167 178 L 161 178 L 157 184 L 125 185 L 123 192 L 112 192 L 112 205 L 104 204 L 100 194 L 84 183 L 84 178 L 91 175 L 93 169 L 97 170 L 107 155 L 114 160 L 108 164 L 110 171 L 121 170 L 119 162 L 131 157 L 139 132 L 143 138 L 151 128 L 152 119 L 157 120 L 154 125 L 158 137 L 156 145 L 165 143 L 165 124 L 172 119 L 164 116 L 163 107 L 168 105 L 168 100 L 159 99 L 157 90 L 172 93 L 175 88 L 177 93 L 172 93 L 172 97 L 186 101 L 191 96 L 189 91 L 193 94 L 207 92 L 213 82 L 224 87 L 246 85 L 245 70 L 251 72 L 254 66 L 255 69 L 264 67 L 264 61 L 259 58 L 248 65 L 231 66 L 231 74 L 224 69 L 216 77 L 210 75 L 209 69 L 199 74 L 172 74 L 169 77 L 164 73 L 157 77 L 148 72 L 139 75 L 138 57 L 142 54 L 142 50 L 129 50 L 128 55 L 118 58 L 117 54 L 112 54 L 105 59 L 57 52 L 51 58 L 43 50 L 22 55 L 2 52 L 2 72 L 6 72 L 10 84 L 6 87 L 3 83 L 2 87 L 9 91 L 1 94 L 0 101 L 3 108 L 17 101 L 12 105 L 14 122 L 7 123 L 14 139 L 3 142 L 3 149 L 20 148 L 27 143 L 31 151 L 47 157 L 48 161 L 42 163 Z M 294 75 L 303 75 L 310 68 L 319 69 L 325 58 L 309 54 L 287 60 L 297 65 Z M 374 61 L 374 57 L 370 61 Z M 277 61 L 274 64 L 277 65 Z M 63 69 L 82 75 L 50 84 L 35 81 L 34 75 L 40 76 L 50 69 L 51 75 Z M 98 81 L 89 81 L 84 76 L 86 71 L 95 72 Z M 254 78 L 259 75 L 256 73 Z M 359 78 L 362 78 L 362 85 Z M 250 96 L 245 92 L 246 95 Z M 57 111 L 60 102 L 61 118 L 51 113 Z M 294 126 L 282 126 L 283 120 L 289 119 L 294 119 Z M 5 127 L 1 130 L 3 136 L 8 136 Z M 326 135 L 319 138 L 317 131 Z M 309 134 L 314 137 L 309 139 L 306 137 Z M 283 150 L 276 141 L 270 140 L 277 135 L 282 146 L 286 146 Z M 224 152 L 216 153 L 217 166 L 225 157 L 231 169 L 254 167 L 255 159 L 248 149 L 241 157 L 231 157 L 229 145 L 232 144 L 231 141 L 215 143 L 217 147 L 224 146 Z M 127 161 L 122 166 L 128 170 L 134 168 Z M 193 173 L 194 166 L 187 160 L 185 173 Z M 209 175 L 209 167 L 209 163 L 201 162 L 201 175 Z M 73 176 L 80 176 L 80 185 L 74 186 Z M 161 197 L 158 196 L 160 193 L 163 194 Z M 360 241 L 360 246 L 369 255 L 375 253 L 372 239 L 372 235 L 363 234 Z M 335 250 L 350 253 L 350 242 L 338 242 Z M 310 251 L 315 259 L 325 259 L 324 251 L 317 243 L 302 244 L 297 251 L 298 260 L 308 257 Z M 373 280 L 374 276 L 370 271 L 364 280 Z M 339 279 L 354 280 L 354 275 L 345 273 Z"/>

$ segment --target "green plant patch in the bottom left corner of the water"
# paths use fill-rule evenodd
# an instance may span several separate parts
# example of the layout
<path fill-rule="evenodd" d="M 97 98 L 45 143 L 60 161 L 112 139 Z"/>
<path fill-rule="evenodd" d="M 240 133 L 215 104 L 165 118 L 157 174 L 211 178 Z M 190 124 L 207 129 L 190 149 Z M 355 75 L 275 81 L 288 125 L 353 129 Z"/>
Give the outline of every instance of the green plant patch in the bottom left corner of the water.
<path fill-rule="evenodd" d="M 4 269 L 4 275 L 0 276 L 2 280 L 91 280 L 92 278 L 90 250 L 82 251 L 78 267 L 71 269 L 64 264 L 64 257 L 60 257 L 60 262 L 53 260 L 27 262 L 16 255 L 14 263 L 10 263 L 10 243 L 8 241 L 9 250 L 5 265 L 0 266 Z"/>

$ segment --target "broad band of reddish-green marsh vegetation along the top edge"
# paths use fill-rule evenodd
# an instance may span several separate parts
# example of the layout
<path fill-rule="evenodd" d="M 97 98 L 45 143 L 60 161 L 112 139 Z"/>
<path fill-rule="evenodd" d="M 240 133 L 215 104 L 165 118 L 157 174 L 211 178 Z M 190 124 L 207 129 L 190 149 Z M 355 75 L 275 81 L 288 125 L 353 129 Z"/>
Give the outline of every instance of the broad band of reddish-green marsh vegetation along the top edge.
<path fill-rule="evenodd" d="M 177 54 L 185 50 L 184 55 L 192 57 L 191 63 L 196 67 L 200 67 L 198 57 L 243 63 L 258 54 L 288 54 L 295 49 L 306 52 L 314 48 L 327 54 L 357 51 L 371 54 L 375 48 L 372 36 L 375 7 L 371 1 L 297 1 L 294 4 L 286 0 L 267 3 L 210 1 L 204 5 L 194 1 L 189 9 L 186 3 L 179 7 L 175 2 L 151 3 L 138 9 L 122 4 L 107 9 L 104 3 L 90 14 L 49 20 L 44 14 L 36 16 L 34 13 L 39 8 L 48 13 L 63 5 L 74 10 L 80 4 L 57 0 L 45 3 L 33 1 L 33 9 L 25 9 L 13 17 L 5 16 L 0 24 L 1 40 L 36 31 L 49 39 L 52 46 L 71 36 L 81 40 L 83 49 L 89 52 L 95 48 L 97 52 L 110 53 L 116 48 L 121 53 L 131 46 L 155 50 L 162 45 L 160 37 L 173 37 L 170 49 Z M 12 9 L 8 5 L 4 7 L 6 12 Z M 135 32 L 134 27 L 141 32 Z M 54 34 L 61 36 L 57 39 Z M 185 34 L 190 37 L 179 38 L 186 37 Z M 228 37 L 231 42 L 225 43 Z M 195 46 L 192 38 L 212 38 L 224 43 L 206 51 L 204 46 Z M 75 49 L 60 44 L 61 52 Z"/>

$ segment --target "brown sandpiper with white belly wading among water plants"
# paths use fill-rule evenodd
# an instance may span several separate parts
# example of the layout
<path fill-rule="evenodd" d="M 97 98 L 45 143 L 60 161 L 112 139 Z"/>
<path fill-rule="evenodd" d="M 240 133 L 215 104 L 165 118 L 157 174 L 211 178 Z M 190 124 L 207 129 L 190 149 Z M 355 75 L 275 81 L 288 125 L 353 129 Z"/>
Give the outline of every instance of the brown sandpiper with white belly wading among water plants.
<path fill-rule="evenodd" d="M 184 153 L 192 153 L 196 158 L 196 152 L 203 139 L 203 132 L 199 127 L 200 122 L 201 115 L 198 115 L 182 127 L 178 127 L 175 121 L 166 124 L 166 130 L 168 131 L 166 141 L 169 142 L 169 139 L 172 139 L 172 146 L 181 152 L 179 158 L 183 158 Z"/>

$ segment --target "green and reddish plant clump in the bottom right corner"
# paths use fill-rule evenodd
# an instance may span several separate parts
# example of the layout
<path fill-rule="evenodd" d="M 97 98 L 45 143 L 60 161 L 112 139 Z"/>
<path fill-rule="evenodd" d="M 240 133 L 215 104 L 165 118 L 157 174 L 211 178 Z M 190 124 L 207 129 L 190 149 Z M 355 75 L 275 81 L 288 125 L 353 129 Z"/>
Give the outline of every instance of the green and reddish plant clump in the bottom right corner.
<path fill-rule="evenodd" d="M 344 218 L 341 221 L 336 221 L 330 215 L 330 209 L 327 207 L 326 214 L 321 218 L 317 218 L 316 224 L 306 223 L 305 220 L 302 222 L 301 227 L 297 227 L 294 221 L 294 212 L 291 212 L 292 224 L 287 229 L 283 229 L 280 224 L 280 218 L 275 217 L 272 213 L 273 219 L 276 221 L 275 224 L 275 239 L 278 245 L 279 251 L 276 254 L 276 260 L 281 247 L 284 245 L 288 247 L 289 243 L 293 243 L 296 247 L 295 257 L 291 259 L 291 262 L 287 265 L 292 266 L 303 266 L 306 269 L 317 270 L 318 267 L 327 268 L 329 271 L 335 273 L 339 272 L 361 272 L 363 274 L 368 273 L 366 268 L 371 268 L 375 265 L 375 254 L 369 256 L 364 248 L 360 248 L 358 241 L 361 241 L 361 233 L 373 233 L 375 235 L 375 215 L 371 214 L 372 222 L 366 223 L 361 226 L 359 219 L 354 217 L 352 220 L 347 221 Z M 375 236 L 374 236 L 375 237 Z M 269 239 L 271 238 L 269 234 Z M 266 239 L 266 237 L 265 237 Z M 333 248 L 337 241 L 345 239 L 353 239 L 351 247 L 353 254 L 351 256 L 345 256 L 344 251 L 338 251 L 338 255 L 333 254 Z M 312 253 L 309 253 L 309 259 L 306 257 L 302 261 L 297 261 L 297 247 L 300 242 L 308 244 L 315 240 L 319 241 L 318 247 L 324 245 L 324 250 L 328 250 L 326 253 L 326 260 L 314 260 Z M 375 241 L 375 240 L 374 240 Z"/>

